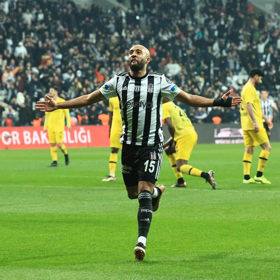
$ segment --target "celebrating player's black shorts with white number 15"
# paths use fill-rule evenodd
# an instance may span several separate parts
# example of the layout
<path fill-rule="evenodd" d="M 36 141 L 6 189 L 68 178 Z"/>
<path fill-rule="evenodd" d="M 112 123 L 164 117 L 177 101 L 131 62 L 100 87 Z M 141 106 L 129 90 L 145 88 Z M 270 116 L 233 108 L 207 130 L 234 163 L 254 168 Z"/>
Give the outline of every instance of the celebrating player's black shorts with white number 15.
<path fill-rule="evenodd" d="M 154 146 L 122 146 L 122 174 L 126 186 L 138 185 L 139 181 L 155 184 L 162 164 L 164 144 Z"/>

